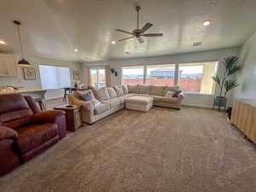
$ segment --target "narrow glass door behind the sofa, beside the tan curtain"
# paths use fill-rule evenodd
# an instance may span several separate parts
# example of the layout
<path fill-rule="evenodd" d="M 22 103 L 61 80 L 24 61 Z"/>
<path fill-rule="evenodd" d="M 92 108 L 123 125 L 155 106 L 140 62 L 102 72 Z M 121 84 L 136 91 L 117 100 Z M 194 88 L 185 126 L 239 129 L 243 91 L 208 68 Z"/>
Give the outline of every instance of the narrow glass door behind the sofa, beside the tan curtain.
<path fill-rule="evenodd" d="M 100 89 L 106 86 L 105 69 L 90 68 L 90 86 Z"/>

